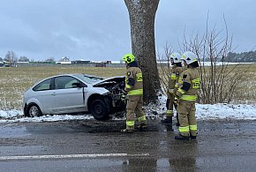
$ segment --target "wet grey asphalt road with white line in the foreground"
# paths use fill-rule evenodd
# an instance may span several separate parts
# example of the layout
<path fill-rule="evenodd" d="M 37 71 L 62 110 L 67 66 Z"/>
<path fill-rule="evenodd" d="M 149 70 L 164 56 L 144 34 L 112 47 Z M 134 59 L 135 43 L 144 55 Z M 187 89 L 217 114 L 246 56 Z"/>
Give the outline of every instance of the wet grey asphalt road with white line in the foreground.
<path fill-rule="evenodd" d="M 132 134 L 124 121 L 1 123 L 0 171 L 255 171 L 255 123 L 201 121 L 197 141 L 158 120 Z"/>

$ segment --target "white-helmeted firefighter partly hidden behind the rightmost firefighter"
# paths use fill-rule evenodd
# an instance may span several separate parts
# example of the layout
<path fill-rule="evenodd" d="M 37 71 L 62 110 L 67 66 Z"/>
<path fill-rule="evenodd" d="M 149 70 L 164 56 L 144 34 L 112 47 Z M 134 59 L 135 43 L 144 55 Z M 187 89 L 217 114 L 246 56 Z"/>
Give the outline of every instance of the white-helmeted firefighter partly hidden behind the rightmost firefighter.
<path fill-rule="evenodd" d="M 172 116 L 173 116 L 173 106 L 177 108 L 177 101 L 174 95 L 175 90 L 177 89 L 177 82 L 181 72 L 183 71 L 181 65 L 181 55 L 179 53 L 172 53 L 171 57 L 171 64 L 173 65 L 170 71 L 170 77 L 168 82 L 168 93 L 167 93 L 167 102 L 166 102 L 166 112 L 165 112 L 165 119 L 161 122 L 163 124 L 172 124 Z M 178 125 L 178 117 L 177 117 L 177 125 Z"/>

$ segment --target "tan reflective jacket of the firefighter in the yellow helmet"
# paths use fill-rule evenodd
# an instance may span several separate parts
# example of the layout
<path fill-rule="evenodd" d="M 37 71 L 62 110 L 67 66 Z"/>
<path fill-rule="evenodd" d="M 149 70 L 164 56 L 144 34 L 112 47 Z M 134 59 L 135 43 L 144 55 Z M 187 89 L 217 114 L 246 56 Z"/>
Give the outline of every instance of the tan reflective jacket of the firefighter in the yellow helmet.
<path fill-rule="evenodd" d="M 125 76 L 124 91 L 127 95 L 143 95 L 142 72 L 139 67 L 129 67 Z"/>

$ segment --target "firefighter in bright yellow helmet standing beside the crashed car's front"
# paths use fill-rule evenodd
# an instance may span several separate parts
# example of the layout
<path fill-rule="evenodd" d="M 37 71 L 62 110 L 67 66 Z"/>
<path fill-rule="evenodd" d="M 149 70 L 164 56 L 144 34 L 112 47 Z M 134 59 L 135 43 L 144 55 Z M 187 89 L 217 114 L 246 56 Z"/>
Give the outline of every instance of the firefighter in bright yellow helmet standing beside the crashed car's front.
<path fill-rule="evenodd" d="M 143 104 L 143 82 L 142 72 L 139 69 L 139 65 L 135 60 L 135 56 L 132 54 L 126 54 L 123 57 L 123 61 L 126 64 L 125 74 L 125 87 L 124 97 L 127 98 L 126 104 L 126 128 L 122 130 L 123 133 L 132 133 L 135 125 L 135 114 L 139 121 L 139 129 L 143 130 L 147 128 L 146 116 L 142 111 Z"/>

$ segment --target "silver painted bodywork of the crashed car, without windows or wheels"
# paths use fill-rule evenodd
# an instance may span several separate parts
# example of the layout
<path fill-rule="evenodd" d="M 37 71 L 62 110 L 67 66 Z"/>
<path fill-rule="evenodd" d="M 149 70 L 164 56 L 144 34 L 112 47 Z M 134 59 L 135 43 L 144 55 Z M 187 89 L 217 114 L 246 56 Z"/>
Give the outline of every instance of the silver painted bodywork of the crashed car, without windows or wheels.
<path fill-rule="evenodd" d="M 113 82 L 113 79 L 124 79 L 124 76 L 114 77 L 110 79 L 102 79 L 100 81 L 91 83 L 86 83 L 84 80 L 79 79 L 75 75 L 58 75 L 50 77 L 48 79 L 53 79 L 56 77 L 72 77 L 78 79 L 80 82 L 84 83 L 87 87 L 74 87 L 74 88 L 64 88 L 64 89 L 52 89 L 45 91 L 34 91 L 34 86 L 37 86 L 42 81 L 47 80 L 43 79 L 40 82 L 37 82 L 30 89 L 24 93 L 24 109 L 25 105 L 30 103 L 35 103 L 41 109 L 42 115 L 47 114 L 66 114 L 66 113 L 78 113 L 88 111 L 87 101 L 92 94 L 107 94 L 110 93 L 104 87 L 99 85 L 104 82 Z M 95 86 L 95 87 L 94 87 Z"/>

